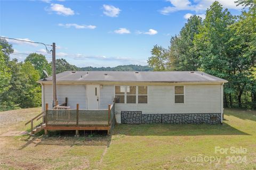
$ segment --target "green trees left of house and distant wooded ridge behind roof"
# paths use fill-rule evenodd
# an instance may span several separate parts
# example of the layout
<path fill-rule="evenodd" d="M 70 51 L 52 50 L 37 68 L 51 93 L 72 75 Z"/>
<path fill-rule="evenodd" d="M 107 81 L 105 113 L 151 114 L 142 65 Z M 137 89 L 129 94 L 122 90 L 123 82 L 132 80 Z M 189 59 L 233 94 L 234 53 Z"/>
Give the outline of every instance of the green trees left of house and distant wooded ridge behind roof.
<path fill-rule="evenodd" d="M 52 63 L 44 55 L 31 53 L 24 62 L 10 59 L 12 45 L 0 38 L 0 111 L 41 106 L 39 79 L 52 75 Z M 65 59 L 56 60 L 56 73 L 63 71 L 148 71 L 149 66 L 77 67 Z"/>

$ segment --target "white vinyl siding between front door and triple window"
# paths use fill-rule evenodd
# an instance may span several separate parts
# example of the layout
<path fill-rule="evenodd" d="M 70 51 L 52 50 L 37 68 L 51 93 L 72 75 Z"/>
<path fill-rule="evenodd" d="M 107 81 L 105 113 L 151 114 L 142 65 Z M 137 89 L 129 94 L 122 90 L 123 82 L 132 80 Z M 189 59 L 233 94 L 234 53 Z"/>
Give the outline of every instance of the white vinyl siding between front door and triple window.
<path fill-rule="evenodd" d="M 113 85 L 103 85 L 100 88 L 100 109 L 107 109 L 108 105 L 113 103 L 114 95 Z"/>

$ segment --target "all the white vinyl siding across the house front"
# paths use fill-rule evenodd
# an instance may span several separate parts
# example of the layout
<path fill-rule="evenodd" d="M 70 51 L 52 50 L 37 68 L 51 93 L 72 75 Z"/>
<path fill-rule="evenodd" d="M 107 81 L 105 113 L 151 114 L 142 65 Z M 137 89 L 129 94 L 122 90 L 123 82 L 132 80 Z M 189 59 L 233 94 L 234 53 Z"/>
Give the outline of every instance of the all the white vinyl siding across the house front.
<path fill-rule="evenodd" d="M 42 101 L 52 107 L 52 86 L 44 85 Z M 114 85 L 103 85 L 100 88 L 100 109 L 107 109 L 113 102 Z M 59 85 L 57 98 L 59 104 L 68 97 L 68 106 L 86 109 L 86 85 Z M 116 104 L 116 114 L 121 111 L 142 111 L 142 114 L 174 114 L 174 113 L 221 113 L 221 84 L 186 85 L 185 103 L 174 104 L 174 86 L 148 86 L 148 104 Z M 117 117 L 117 120 L 119 118 Z"/>

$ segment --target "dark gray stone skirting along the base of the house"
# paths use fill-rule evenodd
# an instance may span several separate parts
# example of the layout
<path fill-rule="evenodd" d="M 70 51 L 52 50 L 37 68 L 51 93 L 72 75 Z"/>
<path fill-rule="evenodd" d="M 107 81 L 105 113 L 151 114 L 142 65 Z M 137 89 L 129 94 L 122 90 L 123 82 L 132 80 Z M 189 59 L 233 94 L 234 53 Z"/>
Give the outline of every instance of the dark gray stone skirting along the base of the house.
<path fill-rule="evenodd" d="M 122 111 L 121 123 L 220 124 L 221 113 L 142 114 L 142 111 Z"/>

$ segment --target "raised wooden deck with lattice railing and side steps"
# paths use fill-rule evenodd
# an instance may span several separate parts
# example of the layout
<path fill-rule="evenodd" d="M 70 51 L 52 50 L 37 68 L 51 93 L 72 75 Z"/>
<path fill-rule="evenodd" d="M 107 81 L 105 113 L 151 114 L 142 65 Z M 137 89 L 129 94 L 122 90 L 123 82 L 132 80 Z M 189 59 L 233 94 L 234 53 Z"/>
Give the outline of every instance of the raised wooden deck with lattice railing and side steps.
<path fill-rule="evenodd" d="M 42 128 L 33 127 L 33 120 L 43 118 L 44 124 Z M 37 115 L 26 124 L 31 123 L 31 134 L 44 129 L 45 134 L 48 130 L 107 130 L 110 133 L 111 128 L 115 125 L 115 103 L 108 105 L 107 109 L 100 110 L 85 110 L 70 109 L 68 106 L 55 106 L 54 109 L 48 109 L 48 104 L 45 106 L 45 111 Z"/>

